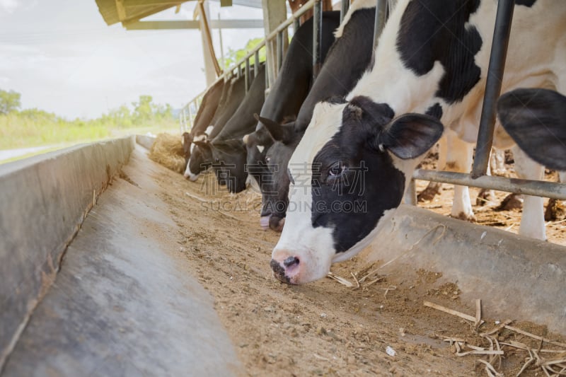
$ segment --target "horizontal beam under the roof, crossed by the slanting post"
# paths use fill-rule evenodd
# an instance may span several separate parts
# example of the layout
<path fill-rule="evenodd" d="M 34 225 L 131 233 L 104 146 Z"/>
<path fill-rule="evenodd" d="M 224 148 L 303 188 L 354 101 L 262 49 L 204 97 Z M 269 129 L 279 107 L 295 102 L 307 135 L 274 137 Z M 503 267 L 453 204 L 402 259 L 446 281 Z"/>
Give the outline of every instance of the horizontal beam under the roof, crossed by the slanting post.
<path fill-rule="evenodd" d="M 213 29 L 263 28 L 263 20 L 210 20 Z M 200 29 L 199 21 L 137 21 L 127 23 L 126 30 Z"/>

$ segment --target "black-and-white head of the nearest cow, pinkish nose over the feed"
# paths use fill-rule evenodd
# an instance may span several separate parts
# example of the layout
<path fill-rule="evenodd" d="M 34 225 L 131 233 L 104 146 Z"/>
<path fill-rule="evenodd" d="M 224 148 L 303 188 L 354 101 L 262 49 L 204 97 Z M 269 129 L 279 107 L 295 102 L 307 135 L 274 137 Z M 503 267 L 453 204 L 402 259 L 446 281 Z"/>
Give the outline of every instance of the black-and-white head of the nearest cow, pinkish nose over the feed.
<path fill-rule="evenodd" d="M 277 279 L 324 277 L 359 253 L 403 198 L 418 157 L 441 137 L 434 117 L 394 118 L 367 97 L 319 103 L 289 161 L 287 221 L 272 252 Z"/>

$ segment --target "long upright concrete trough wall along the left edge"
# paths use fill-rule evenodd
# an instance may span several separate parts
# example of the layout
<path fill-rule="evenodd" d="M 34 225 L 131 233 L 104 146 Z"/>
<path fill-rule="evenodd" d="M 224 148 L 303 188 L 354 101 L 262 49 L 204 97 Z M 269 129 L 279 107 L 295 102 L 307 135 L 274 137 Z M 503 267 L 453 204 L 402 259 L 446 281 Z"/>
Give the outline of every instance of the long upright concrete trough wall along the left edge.
<path fill-rule="evenodd" d="M 133 148 L 134 137 L 125 137 L 0 166 L 0 366 Z"/>

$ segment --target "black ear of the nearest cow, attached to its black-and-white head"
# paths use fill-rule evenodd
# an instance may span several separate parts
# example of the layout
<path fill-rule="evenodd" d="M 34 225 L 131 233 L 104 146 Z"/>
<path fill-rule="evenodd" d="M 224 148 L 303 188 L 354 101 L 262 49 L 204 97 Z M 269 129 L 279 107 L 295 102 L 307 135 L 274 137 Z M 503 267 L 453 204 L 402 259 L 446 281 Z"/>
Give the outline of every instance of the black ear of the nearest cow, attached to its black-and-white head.
<path fill-rule="evenodd" d="M 444 126 L 435 117 L 404 114 L 392 120 L 377 137 L 378 148 L 407 160 L 426 153 L 442 136 Z"/>

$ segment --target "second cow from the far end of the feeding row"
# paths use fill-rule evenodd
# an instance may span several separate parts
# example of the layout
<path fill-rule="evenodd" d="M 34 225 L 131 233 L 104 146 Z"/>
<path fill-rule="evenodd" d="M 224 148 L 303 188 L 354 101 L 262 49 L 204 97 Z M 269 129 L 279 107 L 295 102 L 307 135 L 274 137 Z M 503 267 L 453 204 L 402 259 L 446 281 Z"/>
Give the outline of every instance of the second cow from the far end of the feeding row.
<path fill-rule="evenodd" d="M 242 103 L 245 95 L 246 81 L 243 75 L 227 79 L 224 84 L 224 89 L 222 91 L 218 107 L 216 108 L 214 117 L 212 117 L 211 120 L 210 125 L 212 126 L 212 129 L 207 132 L 206 136 L 201 135 L 200 137 L 193 139 L 193 144 L 191 146 L 192 150 L 190 151 L 191 156 L 187 163 L 187 168 L 185 168 L 185 178 L 195 181 L 200 173 L 209 167 L 209 164 L 207 165 L 205 161 L 211 163 L 212 160 L 208 157 L 212 155 L 207 153 L 207 151 L 200 151 L 200 147 L 197 146 L 197 144 L 202 141 L 212 139 L 219 134 L 226 122 L 228 122 L 233 113 L 238 109 L 238 106 Z"/>

